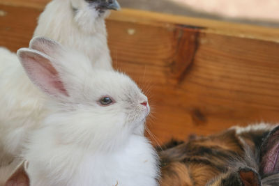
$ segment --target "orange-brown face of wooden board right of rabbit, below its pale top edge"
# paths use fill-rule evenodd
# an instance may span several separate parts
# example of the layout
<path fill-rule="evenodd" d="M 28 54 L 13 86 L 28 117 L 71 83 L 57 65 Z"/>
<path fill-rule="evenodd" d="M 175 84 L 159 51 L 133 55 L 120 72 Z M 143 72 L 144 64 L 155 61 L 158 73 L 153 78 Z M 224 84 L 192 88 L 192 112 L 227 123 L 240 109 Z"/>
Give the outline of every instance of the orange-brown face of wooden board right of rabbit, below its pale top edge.
<path fill-rule="evenodd" d="M 277 42 L 175 26 L 162 29 L 112 21 L 107 25 L 116 66 L 140 85 L 151 86 L 155 105 L 151 131 L 160 141 L 172 136 L 183 139 L 190 133 L 209 134 L 237 124 L 278 121 Z M 129 29 L 135 30 L 133 36 L 128 35 Z M 194 59 L 181 66 L 186 69 L 177 78 L 173 71 L 176 52 L 179 42 L 188 40 L 197 41 L 197 49 L 188 52 L 196 46 L 184 46 L 186 53 L 180 55 L 181 60 L 193 55 Z"/>

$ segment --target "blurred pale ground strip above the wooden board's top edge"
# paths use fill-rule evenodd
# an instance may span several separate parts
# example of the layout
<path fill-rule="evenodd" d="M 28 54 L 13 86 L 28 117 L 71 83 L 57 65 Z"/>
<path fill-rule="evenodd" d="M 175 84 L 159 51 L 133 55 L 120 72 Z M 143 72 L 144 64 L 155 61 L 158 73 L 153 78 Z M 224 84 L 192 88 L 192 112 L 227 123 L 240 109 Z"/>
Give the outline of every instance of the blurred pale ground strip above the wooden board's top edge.
<path fill-rule="evenodd" d="M 119 0 L 123 8 L 279 27 L 279 0 Z"/>

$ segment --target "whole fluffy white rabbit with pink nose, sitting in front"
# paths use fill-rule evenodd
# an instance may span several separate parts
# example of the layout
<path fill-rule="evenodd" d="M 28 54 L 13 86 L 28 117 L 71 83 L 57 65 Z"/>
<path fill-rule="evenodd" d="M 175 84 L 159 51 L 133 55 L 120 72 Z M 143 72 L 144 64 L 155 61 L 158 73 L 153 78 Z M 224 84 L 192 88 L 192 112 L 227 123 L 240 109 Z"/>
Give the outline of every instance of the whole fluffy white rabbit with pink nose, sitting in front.
<path fill-rule="evenodd" d="M 156 151 L 144 137 L 150 108 L 128 76 L 46 38 L 17 55 L 31 82 L 50 96 L 23 159 L 31 186 L 158 185 Z"/>

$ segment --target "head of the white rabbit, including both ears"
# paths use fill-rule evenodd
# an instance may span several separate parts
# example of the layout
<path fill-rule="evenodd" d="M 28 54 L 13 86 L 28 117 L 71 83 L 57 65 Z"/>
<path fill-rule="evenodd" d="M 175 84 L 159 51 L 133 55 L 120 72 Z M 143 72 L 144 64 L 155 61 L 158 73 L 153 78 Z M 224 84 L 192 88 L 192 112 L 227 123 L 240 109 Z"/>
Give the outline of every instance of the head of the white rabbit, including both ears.
<path fill-rule="evenodd" d="M 59 143 L 114 149 L 130 134 L 144 134 L 148 100 L 127 75 L 93 69 L 84 55 L 47 38 L 34 38 L 17 56 L 50 97 L 43 125 L 55 127 Z"/>

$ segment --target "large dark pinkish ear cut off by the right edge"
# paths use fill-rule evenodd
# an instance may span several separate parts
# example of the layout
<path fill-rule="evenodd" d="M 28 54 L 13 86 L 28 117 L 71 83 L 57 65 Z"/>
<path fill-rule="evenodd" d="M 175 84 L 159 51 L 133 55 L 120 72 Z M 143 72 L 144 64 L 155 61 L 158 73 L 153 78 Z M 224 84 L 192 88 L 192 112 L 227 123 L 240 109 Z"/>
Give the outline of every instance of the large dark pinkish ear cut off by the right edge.
<path fill-rule="evenodd" d="M 260 158 L 260 173 L 279 173 L 279 126 L 264 139 Z"/>

